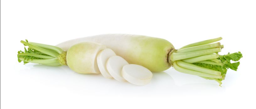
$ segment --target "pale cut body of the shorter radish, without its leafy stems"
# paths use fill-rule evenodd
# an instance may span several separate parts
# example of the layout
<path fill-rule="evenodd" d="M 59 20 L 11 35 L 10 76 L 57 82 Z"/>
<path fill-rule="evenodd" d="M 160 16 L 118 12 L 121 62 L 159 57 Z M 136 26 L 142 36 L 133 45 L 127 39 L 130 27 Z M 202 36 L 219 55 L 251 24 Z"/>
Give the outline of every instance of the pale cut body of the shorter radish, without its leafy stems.
<path fill-rule="evenodd" d="M 67 65 L 77 73 L 100 73 L 96 56 L 105 45 L 94 42 L 82 42 L 67 50 Z"/>

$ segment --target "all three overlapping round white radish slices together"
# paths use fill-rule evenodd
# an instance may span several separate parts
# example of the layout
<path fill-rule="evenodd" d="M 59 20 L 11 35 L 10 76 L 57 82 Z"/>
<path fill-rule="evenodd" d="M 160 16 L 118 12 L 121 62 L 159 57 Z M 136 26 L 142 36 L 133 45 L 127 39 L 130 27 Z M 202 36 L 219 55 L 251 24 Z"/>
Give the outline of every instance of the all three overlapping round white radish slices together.
<path fill-rule="evenodd" d="M 129 64 L 109 48 L 99 52 L 97 64 L 105 78 L 115 78 L 120 82 L 128 81 L 136 85 L 146 85 L 150 83 L 153 75 L 149 69 L 141 65 Z"/>

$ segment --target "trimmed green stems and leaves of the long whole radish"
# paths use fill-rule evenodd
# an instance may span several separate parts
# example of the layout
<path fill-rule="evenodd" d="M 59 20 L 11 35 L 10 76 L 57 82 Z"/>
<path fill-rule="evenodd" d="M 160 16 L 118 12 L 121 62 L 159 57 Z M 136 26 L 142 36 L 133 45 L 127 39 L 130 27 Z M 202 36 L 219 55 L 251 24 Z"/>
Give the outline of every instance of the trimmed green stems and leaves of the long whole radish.
<path fill-rule="evenodd" d="M 237 71 L 243 57 L 241 52 L 218 55 L 223 45 L 213 43 L 222 38 L 215 38 L 192 43 L 170 53 L 169 61 L 173 62 L 173 67 L 179 72 L 197 75 L 205 79 L 215 80 L 220 85 L 225 79 L 227 69 Z M 212 44 L 211 44 L 212 43 Z"/>

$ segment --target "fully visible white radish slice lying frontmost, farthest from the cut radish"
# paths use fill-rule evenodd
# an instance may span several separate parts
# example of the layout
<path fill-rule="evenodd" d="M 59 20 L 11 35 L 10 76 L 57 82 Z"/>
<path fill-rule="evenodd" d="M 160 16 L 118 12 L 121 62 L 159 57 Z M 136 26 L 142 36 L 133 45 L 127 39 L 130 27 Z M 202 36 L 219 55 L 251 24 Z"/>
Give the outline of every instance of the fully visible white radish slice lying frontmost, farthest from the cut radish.
<path fill-rule="evenodd" d="M 146 85 L 150 83 L 153 76 L 149 69 L 136 64 L 125 65 L 121 74 L 125 80 L 135 85 Z"/>

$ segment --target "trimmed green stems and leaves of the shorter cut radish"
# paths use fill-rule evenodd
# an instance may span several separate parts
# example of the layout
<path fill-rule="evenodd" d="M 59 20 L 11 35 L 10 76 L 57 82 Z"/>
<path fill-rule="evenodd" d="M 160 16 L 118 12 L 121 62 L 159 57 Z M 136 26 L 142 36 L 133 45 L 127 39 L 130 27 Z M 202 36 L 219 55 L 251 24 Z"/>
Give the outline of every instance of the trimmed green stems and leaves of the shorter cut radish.
<path fill-rule="evenodd" d="M 45 64 L 50 66 L 67 65 L 66 55 L 67 52 L 59 47 L 52 45 L 39 44 L 28 42 L 28 40 L 20 41 L 24 47 L 24 51 L 18 51 L 18 61 L 26 63 Z"/>

